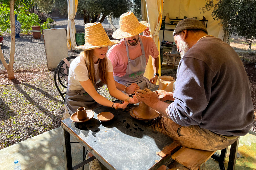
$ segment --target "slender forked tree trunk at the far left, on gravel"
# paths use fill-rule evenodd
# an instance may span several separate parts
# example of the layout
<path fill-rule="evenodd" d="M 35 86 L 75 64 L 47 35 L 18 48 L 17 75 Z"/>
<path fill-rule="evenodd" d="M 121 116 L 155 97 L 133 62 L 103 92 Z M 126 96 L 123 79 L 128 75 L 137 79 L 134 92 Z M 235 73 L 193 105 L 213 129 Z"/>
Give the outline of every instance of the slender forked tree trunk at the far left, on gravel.
<path fill-rule="evenodd" d="M 13 63 L 14 63 L 14 52 L 15 52 L 15 20 L 14 20 L 14 0 L 10 0 L 10 20 L 11 20 L 11 52 L 9 64 L 6 63 L 2 50 L 0 52 L 0 59 L 6 68 L 9 79 L 14 79 Z"/>

